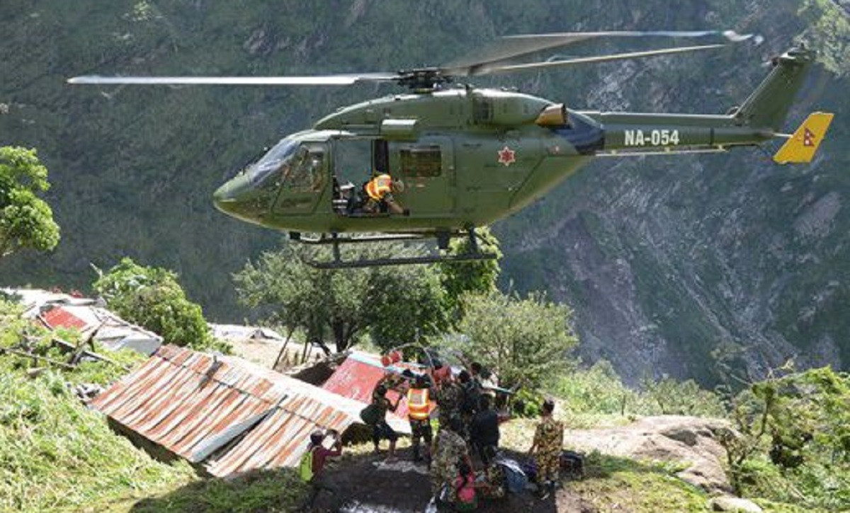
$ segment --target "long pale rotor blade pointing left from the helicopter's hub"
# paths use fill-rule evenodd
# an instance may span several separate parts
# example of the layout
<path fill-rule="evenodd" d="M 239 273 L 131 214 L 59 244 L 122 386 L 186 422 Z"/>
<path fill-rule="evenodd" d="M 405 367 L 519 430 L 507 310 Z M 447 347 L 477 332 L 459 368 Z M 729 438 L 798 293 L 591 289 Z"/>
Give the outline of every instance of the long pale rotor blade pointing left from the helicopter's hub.
<path fill-rule="evenodd" d="M 387 82 L 396 73 L 325 76 L 75 76 L 70 84 L 138 84 L 163 86 L 350 86 L 358 82 Z"/>

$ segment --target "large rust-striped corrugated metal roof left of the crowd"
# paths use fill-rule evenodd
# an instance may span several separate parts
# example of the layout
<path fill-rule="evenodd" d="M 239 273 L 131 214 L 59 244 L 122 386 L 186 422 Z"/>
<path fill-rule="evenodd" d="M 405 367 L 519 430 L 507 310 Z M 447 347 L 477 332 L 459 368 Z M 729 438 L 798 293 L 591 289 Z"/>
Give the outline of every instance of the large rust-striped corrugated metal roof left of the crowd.
<path fill-rule="evenodd" d="M 240 358 L 173 346 L 91 405 L 214 476 L 297 465 L 310 432 L 342 433 L 365 406 Z M 410 432 L 405 422 L 390 424 Z"/>

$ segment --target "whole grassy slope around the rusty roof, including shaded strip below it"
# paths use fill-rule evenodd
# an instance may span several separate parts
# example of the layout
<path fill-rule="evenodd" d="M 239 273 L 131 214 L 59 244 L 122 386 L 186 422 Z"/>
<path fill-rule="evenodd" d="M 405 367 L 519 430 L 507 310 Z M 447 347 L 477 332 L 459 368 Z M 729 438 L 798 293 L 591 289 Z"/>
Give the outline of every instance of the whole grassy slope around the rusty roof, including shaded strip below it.
<path fill-rule="evenodd" d="M 68 391 L 121 369 L 84 364 L 32 379 L 21 364 L 0 356 L 0 511 L 286 511 L 303 501 L 289 469 L 225 482 L 201 479 L 183 461 L 151 459 Z"/>

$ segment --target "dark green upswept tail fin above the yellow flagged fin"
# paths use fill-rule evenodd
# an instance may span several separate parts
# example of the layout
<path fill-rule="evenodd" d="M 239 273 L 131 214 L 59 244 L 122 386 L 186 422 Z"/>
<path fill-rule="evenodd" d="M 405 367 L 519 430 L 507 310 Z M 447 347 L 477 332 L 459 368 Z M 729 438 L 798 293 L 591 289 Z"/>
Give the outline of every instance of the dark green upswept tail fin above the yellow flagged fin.
<path fill-rule="evenodd" d="M 802 46 L 774 58 L 774 69 L 740 106 L 734 117 L 749 127 L 779 132 L 797 91 L 806 78 L 814 52 Z"/>

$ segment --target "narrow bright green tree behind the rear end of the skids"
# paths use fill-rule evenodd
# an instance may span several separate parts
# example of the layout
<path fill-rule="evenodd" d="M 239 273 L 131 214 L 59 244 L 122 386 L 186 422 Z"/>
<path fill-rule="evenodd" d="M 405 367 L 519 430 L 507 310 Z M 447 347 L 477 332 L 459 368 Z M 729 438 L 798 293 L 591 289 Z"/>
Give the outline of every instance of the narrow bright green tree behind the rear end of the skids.
<path fill-rule="evenodd" d="M 496 235 L 490 233 L 490 228 L 481 227 L 477 232 L 479 250 L 483 253 L 493 253 L 496 258 L 473 262 L 439 262 L 439 269 L 443 273 L 446 306 L 452 314 L 454 324 L 463 317 L 462 296 L 470 293 L 486 294 L 496 290 L 496 279 L 499 279 L 501 273 L 499 240 Z M 469 239 L 453 239 L 448 254 L 463 255 L 471 249 Z"/>

